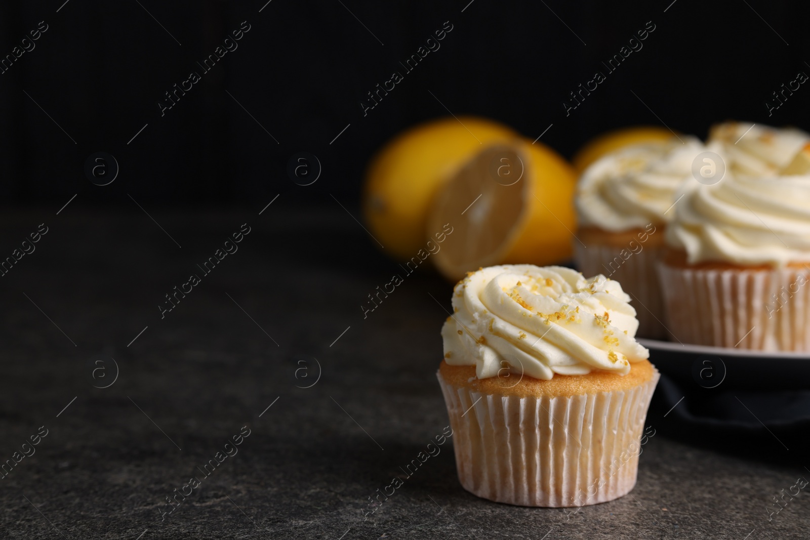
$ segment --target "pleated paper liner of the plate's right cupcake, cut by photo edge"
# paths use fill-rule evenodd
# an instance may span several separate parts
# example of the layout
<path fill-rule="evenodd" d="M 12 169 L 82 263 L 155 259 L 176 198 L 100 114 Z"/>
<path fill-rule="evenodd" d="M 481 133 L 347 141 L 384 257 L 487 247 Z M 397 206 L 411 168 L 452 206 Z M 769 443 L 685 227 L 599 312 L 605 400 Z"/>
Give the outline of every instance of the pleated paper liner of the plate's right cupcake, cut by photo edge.
<path fill-rule="evenodd" d="M 667 326 L 680 342 L 810 351 L 810 269 L 699 270 L 659 265 Z"/>

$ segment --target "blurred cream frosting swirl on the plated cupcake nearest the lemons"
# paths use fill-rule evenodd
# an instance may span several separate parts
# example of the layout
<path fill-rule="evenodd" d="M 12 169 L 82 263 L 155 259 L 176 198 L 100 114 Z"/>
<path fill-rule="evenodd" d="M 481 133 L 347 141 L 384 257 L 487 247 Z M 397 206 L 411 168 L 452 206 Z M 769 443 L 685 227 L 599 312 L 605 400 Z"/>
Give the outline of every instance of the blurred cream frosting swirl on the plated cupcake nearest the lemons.
<path fill-rule="evenodd" d="M 582 173 L 576 197 L 581 227 L 621 232 L 667 223 L 673 195 L 705 151 L 694 137 L 643 142 L 604 155 Z"/>

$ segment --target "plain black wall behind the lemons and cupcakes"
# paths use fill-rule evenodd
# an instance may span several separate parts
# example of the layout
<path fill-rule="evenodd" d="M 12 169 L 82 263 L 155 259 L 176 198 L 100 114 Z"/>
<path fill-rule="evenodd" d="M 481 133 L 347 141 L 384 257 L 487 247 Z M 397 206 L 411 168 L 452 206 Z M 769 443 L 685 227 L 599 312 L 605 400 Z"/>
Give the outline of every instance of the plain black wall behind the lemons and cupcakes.
<path fill-rule="evenodd" d="M 437 99 L 457 116 L 491 117 L 531 139 L 553 124 L 542 141 L 568 157 L 623 125 L 665 122 L 701 137 L 728 118 L 810 127 L 804 86 L 770 118 L 764 104 L 798 71 L 810 73 L 801 2 L 272 0 L 261 13 L 266 0 L 62 2 L 0 5 L 3 57 L 40 21 L 49 26 L 0 74 L 7 205 L 62 206 L 74 193 L 79 206 L 132 206 L 126 193 L 150 205 L 264 206 L 276 193 L 334 205 L 333 193 L 356 204 L 369 157 L 407 126 L 446 115 Z M 243 20 L 251 29 L 238 49 L 161 117 L 164 92 L 201 72 L 196 62 Z M 403 71 L 399 62 L 448 20 L 441 49 L 364 117 L 366 93 Z M 643 49 L 608 74 L 601 62 L 647 21 L 655 31 Z M 563 100 L 595 70 L 608 79 L 566 117 Z M 83 174 L 96 151 L 120 164 L 112 185 Z M 315 184 L 288 178 L 297 151 L 321 161 Z"/>

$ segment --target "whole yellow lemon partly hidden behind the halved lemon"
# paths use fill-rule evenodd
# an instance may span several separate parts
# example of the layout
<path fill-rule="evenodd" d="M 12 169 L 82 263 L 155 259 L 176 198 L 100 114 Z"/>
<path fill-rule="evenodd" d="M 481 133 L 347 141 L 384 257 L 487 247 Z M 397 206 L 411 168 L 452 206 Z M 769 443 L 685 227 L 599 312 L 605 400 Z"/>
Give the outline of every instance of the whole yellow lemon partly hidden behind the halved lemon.
<path fill-rule="evenodd" d="M 399 134 L 373 158 L 363 188 L 363 215 L 391 257 L 424 249 L 424 223 L 437 189 L 486 145 L 518 134 L 495 121 L 448 117 Z"/>

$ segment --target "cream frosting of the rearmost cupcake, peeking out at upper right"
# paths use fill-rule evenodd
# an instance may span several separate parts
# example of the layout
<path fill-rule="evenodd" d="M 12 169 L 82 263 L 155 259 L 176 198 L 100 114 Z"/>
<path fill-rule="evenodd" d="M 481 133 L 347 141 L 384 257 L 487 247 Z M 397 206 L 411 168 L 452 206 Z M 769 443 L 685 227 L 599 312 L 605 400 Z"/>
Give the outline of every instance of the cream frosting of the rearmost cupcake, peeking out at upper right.
<path fill-rule="evenodd" d="M 778 176 L 808 142 L 810 134 L 795 128 L 728 121 L 712 126 L 706 144 L 735 175 Z"/>

